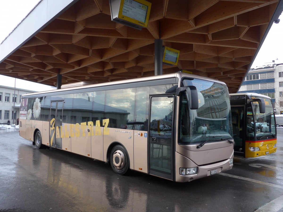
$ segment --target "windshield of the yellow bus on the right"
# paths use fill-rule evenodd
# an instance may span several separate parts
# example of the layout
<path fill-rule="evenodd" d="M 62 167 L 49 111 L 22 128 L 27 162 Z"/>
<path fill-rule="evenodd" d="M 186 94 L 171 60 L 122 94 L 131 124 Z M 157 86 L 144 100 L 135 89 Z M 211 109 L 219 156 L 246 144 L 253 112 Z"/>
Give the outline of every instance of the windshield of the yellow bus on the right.
<path fill-rule="evenodd" d="M 260 96 L 251 96 L 251 98 L 262 98 Z M 265 101 L 265 113 L 259 112 L 258 102 L 252 102 L 252 110 L 249 112 L 247 109 L 247 127 L 250 126 L 250 130 L 247 130 L 249 137 L 254 137 L 258 140 L 266 139 L 265 136 L 273 135 L 275 137 L 275 118 L 274 109 L 271 103 L 271 99 L 262 98 Z M 254 129 L 255 124 L 255 129 Z"/>

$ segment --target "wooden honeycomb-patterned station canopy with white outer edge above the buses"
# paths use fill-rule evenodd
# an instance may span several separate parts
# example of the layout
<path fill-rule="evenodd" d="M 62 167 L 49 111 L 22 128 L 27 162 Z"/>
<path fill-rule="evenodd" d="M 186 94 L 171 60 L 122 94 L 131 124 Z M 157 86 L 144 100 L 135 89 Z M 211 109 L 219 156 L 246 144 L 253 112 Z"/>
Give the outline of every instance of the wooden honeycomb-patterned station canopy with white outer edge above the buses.
<path fill-rule="evenodd" d="M 282 0 L 149 0 L 147 28 L 113 22 L 108 0 L 42 0 L 0 44 L 0 74 L 56 86 L 154 75 L 155 39 L 180 50 L 177 66 L 237 92 Z"/>

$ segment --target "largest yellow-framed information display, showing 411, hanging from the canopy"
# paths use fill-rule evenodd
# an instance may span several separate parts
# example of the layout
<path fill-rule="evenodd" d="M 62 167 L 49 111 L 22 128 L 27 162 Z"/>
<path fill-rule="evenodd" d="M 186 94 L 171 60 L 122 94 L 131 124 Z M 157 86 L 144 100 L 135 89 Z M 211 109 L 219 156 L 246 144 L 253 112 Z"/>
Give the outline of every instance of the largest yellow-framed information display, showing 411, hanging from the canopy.
<path fill-rule="evenodd" d="M 112 21 L 135 29 L 147 27 L 151 3 L 145 0 L 110 0 Z"/>

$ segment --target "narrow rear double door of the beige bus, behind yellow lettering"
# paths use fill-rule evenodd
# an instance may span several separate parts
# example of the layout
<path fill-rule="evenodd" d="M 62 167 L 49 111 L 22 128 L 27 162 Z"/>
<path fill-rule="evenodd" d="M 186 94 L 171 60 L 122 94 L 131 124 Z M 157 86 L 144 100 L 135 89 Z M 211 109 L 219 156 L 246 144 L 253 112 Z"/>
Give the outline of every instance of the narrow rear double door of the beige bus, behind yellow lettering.
<path fill-rule="evenodd" d="M 62 127 L 63 101 L 52 101 L 50 107 L 50 146 L 62 149 L 61 127 Z"/>

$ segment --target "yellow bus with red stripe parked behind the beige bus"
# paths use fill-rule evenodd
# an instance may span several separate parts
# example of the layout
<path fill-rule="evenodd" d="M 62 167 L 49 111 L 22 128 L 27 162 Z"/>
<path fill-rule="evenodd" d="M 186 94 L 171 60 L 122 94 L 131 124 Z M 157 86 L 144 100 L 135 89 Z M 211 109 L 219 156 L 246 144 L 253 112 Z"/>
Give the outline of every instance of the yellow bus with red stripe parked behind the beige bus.
<path fill-rule="evenodd" d="M 271 98 L 256 93 L 230 94 L 234 154 L 258 157 L 276 152 L 276 122 Z"/>

